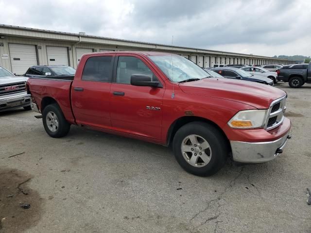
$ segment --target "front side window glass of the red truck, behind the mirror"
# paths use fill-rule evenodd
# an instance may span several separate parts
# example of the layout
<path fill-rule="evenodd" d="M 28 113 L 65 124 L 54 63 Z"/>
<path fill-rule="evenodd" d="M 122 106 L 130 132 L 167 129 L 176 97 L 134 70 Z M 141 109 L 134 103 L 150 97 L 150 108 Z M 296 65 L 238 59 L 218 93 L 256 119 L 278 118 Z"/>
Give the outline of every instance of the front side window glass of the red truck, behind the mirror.
<path fill-rule="evenodd" d="M 137 57 L 119 56 L 116 82 L 130 84 L 132 74 L 145 74 L 153 80 L 152 71 L 140 59 Z"/>

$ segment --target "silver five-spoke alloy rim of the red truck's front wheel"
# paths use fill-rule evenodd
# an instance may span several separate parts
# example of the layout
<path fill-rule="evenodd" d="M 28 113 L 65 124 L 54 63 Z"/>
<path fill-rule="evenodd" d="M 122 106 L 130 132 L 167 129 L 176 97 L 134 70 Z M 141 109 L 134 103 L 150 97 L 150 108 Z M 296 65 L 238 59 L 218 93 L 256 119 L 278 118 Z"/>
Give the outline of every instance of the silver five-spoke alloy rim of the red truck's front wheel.
<path fill-rule="evenodd" d="M 206 166 L 212 156 L 212 151 L 207 140 L 196 134 L 188 135 L 183 139 L 181 152 L 184 159 L 195 167 Z"/>

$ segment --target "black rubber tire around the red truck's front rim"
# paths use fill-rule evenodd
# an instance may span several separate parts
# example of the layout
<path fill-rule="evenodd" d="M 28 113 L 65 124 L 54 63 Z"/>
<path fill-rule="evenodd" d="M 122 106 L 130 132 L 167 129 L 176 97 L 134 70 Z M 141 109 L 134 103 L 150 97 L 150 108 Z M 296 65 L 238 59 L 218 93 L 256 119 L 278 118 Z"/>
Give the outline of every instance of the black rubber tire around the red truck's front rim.
<path fill-rule="evenodd" d="M 211 151 L 209 151 L 210 160 L 206 165 L 202 167 L 190 165 L 190 163 L 187 162 L 186 158 L 183 155 L 181 146 L 184 145 L 185 138 L 187 138 L 187 136 L 191 134 L 202 137 L 207 141 L 210 146 L 210 149 L 207 149 Z M 190 145 L 190 147 L 192 147 L 192 145 Z M 192 149 L 193 148 L 191 148 L 191 150 Z M 198 148 L 195 148 L 195 150 L 197 149 Z M 211 124 L 207 124 L 205 122 L 191 122 L 182 126 L 174 135 L 173 152 L 178 164 L 187 172 L 197 176 L 210 176 L 215 174 L 225 165 L 225 161 L 228 158 L 227 139 L 219 131 L 219 129 Z M 186 153 L 188 154 L 188 152 Z M 194 156 L 194 153 L 190 153 L 192 153 L 192 158 L 192 156 Z M 206 154 L 208 154 L 208 152 Z"/>

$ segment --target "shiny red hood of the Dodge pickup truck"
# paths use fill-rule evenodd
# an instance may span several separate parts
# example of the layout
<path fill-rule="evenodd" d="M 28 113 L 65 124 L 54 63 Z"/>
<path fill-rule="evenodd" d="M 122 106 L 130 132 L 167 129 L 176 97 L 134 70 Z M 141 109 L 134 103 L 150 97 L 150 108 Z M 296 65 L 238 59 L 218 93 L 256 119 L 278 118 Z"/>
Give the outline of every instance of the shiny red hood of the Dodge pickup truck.
<path fill-rule="evenodd" d="M 258 109 L 267 109 L 273 100 L 286 95 L 284 91 L 266 84 L 226 78 L 206 78 L 180 83 L 179 87 L 187 94 L 232 100 Z"/>

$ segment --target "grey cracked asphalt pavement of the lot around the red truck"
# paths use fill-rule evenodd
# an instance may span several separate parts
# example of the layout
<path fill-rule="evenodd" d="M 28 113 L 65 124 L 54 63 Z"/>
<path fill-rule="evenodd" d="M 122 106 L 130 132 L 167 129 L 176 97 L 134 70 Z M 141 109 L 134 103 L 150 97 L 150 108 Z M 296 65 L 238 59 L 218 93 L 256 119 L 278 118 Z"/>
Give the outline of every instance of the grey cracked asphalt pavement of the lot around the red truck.
<path fill-rule="evenodd" d="M 185 172 L 171 150 L 159 145 L 78 127 L 55 139 L 34 112 L 0 113 L 0 175 L 10 169 L 27 174 L 17 176 L 14 187 L 23 192 L 27 184 L 29 194 L 18 197 L 31 204 L 23 210 L 19 200 L 7 198 L 11 193 L 3 194 L 0 206 L 10 200 L 18 208 L 12 209 L 14 218 L 0 213 L 5 218 L 0 233 L 14 232 L 6 229 L 12 219 L 28 222 L 27 233 L 311 232 L 306 195 L 311 84 L 276 87 L 288 93 L 287 116 L 293 123 L 284 152 L 266 164 L 228 160 L 205 178 Z"/>

